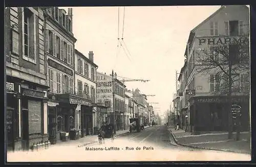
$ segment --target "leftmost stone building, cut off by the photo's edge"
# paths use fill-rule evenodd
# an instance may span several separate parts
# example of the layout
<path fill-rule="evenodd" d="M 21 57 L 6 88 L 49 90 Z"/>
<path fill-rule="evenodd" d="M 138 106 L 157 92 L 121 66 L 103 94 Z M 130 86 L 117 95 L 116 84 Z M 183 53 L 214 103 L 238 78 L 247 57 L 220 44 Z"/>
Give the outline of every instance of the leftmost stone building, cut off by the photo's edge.
<path fill-rule="evenodd" d="M 44 20 L 41 8 L 5 9 L 8 150 L 48 141 Z"/>

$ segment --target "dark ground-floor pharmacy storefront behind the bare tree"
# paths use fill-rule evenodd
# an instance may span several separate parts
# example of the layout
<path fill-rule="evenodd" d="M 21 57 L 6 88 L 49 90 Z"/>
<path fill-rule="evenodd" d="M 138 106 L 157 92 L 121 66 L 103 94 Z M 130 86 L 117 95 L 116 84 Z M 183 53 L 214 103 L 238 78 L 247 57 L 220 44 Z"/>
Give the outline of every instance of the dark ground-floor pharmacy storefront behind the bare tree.
<path fill-rule="evenodd" d="M 249 96 L 232 96 L 232 104 L 241 106 L 241 130 L 249 130 Z M 227 131 L 230 107 L 226 96 L 192 97 L 189 99 L 190 131 Z"/>

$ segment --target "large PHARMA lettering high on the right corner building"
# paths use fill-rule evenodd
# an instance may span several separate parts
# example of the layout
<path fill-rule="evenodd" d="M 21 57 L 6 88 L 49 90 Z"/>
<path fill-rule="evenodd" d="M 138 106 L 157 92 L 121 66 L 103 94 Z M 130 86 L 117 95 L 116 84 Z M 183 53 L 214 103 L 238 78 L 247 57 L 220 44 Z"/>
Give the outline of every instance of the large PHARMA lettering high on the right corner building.
<path fill-rule="evenodd" d="M 200 38 L 198 40 L 199 40 L 199 45 L 202 45 L 202 44 L 219 45 L 219 44 L 232 44 L 232 43 L 249 44 L 249 40 L 247 37 Z"/>

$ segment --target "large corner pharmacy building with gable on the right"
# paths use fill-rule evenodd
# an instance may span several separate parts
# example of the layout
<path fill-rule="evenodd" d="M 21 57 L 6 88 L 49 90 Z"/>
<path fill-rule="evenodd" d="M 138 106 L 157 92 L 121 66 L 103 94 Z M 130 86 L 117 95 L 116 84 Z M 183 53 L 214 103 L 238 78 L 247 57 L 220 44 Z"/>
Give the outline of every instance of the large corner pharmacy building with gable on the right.
<path fill-rule="evenodd" d="M 209 50 L 214 55 L 213 60 L 227 68 L 220 60 L 226 57 L 233 58 L 238 55 L 233 48 L 236 44 L 241 45 L 240 57 L 245 61 L 232 64 L 234 67 L 243 64 L 249 66 L 249 9 L 247 6 L 221 6 L 214 14 L 191 30 L 188 45 L 185 50 L 185 64 L 179 75 L 180 81 L 180 110 L 183 116 L 188 116 L 189 129 L 193 133 L 211 130 L 227 130 L 230 105 L 226 90 L 221 90 L 225 82 L 224 74 L 220 74 L 220 67 L 200 71 L 209 64 L 202 64 L 203 51 Z M 223 46 L 223 47 L 222 47 Z M 223 48 L 225 52 L 218 52 L 212 48 Z M 241 51 L 239 49 L 239 51 Z M 244 51 L 245 50 L 245 51 Z M 201 56 L 201 58 L 200 58 Z M 212 63 L 212 62 L 210 62 Z M 229 64 L 229 63 L 228 63 Z M 211 64 L 210 64 L 211 65 Z M 205 68 L 206 69 L 206 68 Z M 228 71 L 228 70 L 226 70 Z M 232 104 L 241 107 L 241 130 L 249 129 L 249 68 L 248 70 L 234 69 L 232 76 Z M 221 80 L 222 78 L 223 80 Z"/>

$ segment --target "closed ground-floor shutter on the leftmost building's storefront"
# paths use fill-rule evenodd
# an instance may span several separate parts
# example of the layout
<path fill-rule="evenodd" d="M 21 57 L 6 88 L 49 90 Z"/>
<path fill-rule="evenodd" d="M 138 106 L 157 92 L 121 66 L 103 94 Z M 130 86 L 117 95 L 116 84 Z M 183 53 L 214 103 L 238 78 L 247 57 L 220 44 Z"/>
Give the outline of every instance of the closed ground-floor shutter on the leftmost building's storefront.
<path fill-rule="evenodd" d="M 29 134 L 41 133 L 41 102 L 28 100 Z"/>

